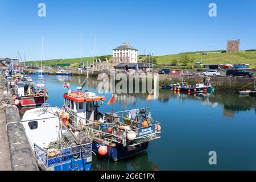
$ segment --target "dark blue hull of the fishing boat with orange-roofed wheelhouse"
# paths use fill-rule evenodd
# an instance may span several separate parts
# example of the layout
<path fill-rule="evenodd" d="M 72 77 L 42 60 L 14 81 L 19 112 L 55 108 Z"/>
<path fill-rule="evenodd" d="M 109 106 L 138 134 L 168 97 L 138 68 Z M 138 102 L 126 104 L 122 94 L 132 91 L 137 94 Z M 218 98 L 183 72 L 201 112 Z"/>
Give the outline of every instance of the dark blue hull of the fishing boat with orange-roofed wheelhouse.
<path fill-rule="evenodd" d="M 123 147 L 122 144 L 115 143 L 115 147 L 108 146 L 108 153 L 105 155 L 106 157 L 117 161 L 125 158 L 129 158 L 133 155 L 140 154 L 141 152 L 147 150 L 148 142 L 138 144 L 134 147 Z M 98 154 L 98 148 L 100 147 L 101 143 L 92 142 L 92 150 Z"/>

